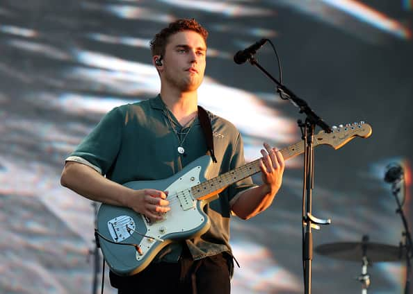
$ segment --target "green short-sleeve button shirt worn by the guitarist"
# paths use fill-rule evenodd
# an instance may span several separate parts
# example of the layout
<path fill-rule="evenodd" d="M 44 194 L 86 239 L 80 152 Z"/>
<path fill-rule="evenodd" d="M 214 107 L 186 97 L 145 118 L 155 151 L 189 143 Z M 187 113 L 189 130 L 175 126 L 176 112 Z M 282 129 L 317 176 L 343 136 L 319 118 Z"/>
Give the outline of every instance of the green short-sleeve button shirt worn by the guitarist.
<path fill-rule="evenodd" d="M 234 125 L 211 112 L 208 114 L 218 161 L 209 169 L 209 175 L 213 178 L 242 166 L 245 159 L 243 141 Z M 173 115 L 170 115 L 170 119 L 179 126 Z M 185 134 L 188 128 L 190 126 L 177 132 Z M 179 139 L 172 130 L 165 104 L 158 95 L 139 103 L 115 107 L 83 139 L 67 160 L 86 163 L 106 175 L 106 178 L 120 184 L 132 180 L 169 178 L 193 160 L 208 154 L 204 133 L 197 118 L 182 144 L 185 148 L 184 155 L 177 152 L 178 146 Z M 211 220 L 209 231 L 195 239 L 186 240 L 194 259 L 231 250 L 229 201 L 238 192 L 253 186 L 251 178 L 241 180 L 227 187 L 217 200 L 204 207 Z M 166 246 L 155 261 L 177 261 L 181 254 L 181 245 L 172 243 Z"/>

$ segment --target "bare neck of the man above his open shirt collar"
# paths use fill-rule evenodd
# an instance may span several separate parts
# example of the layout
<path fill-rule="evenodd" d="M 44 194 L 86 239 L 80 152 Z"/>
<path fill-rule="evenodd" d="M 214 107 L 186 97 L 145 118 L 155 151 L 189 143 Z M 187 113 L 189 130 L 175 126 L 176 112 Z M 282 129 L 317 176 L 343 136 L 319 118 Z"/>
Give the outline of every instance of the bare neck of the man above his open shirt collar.
<path fill-rule="evenodd" d="M 166 107 L 174 114 L 181 126 L 185 126 L 197 115 L 197 92 L 178 92 L 163 91 L 161 98 Z"/>

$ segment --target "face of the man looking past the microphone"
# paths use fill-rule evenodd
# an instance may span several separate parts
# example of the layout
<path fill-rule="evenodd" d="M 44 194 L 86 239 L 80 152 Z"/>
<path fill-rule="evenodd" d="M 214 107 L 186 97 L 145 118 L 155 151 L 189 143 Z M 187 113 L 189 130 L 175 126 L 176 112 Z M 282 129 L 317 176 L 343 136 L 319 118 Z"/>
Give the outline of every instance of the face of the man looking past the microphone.
<path fill-rule="evenodd" d="M 204 78 L 206 44 L 195 31 L 171 35 L 165 47 L 163 65 L 158 67 L 161 81 L 181 92 L 195 91 Z"/>

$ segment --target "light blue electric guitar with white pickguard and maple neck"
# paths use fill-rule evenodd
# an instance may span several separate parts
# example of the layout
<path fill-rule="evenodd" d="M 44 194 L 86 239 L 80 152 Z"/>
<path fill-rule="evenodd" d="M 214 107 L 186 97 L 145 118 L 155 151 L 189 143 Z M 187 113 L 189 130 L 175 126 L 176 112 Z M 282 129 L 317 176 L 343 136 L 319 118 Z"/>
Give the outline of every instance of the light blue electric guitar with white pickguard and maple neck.
<path fill-rule="evenodd" d="M 314 146 L 327 144 L 338 149 L 355 137 L 370 135 L 369 124 L 353 123 L 333 128 L 330 133 L 321 130 L 314 135 Z M 280 150 L 284 159 L 304 151 L 304 141 Z M 211 157 L 204 155 L 170 178 L 125 183 L 124 186 L 135 190 L 168 191 L 170 211 L 163 220 L 151 222 L 132 209 L 102 204 L 97 213 L 96 234 L 108 266 L 118 275 L 134 275 L 144 270 L 165 245 L 204 234 L 210 226 L 202 210 L 204 205 L 218 198 L 218 193 L 230 184 L 259 173 L 259 160 L 206 180 Z"/>

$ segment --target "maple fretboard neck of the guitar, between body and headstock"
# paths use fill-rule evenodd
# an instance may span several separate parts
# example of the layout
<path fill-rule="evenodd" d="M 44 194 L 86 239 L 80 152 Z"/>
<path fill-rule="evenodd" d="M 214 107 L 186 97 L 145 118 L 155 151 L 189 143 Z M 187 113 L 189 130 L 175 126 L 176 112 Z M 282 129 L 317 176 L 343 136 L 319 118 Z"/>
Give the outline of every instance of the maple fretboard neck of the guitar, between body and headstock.
<path fill-rule="evenodd" d="M 314 146 L 316 145 L 316 141 L 314 141 Z M 304 153 L 304 148 L 304 141 L 299 141 L 287 148 L 280 150 L 280 152 L 284 157 L 284 160 L 287 160 L 300 155 L 301 153 Z M 220 193 L 220 191 L 228 187 L 230 184 L 234 184 L 234 182 L 238 182 L 240 180 L 248 178 L 250 175 L 259 173 L 261 171 L 261 169 L 259 168 L 260 160 L 261 159 L 256 159 L 253 162 L 245 164 L 244 166 L 240 166 L 232 171 L 218 175 L 218 177 L 216 178 L 207 180 L 205 182 L 202 182 L 201 184 L 197 184 L 196 186 L 191 188 L 191 193 L 197 200 L 206 200 L 208 198 L 211 198 L 217 193 Z"/>

